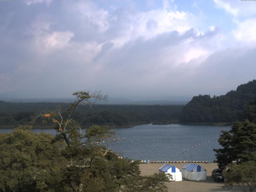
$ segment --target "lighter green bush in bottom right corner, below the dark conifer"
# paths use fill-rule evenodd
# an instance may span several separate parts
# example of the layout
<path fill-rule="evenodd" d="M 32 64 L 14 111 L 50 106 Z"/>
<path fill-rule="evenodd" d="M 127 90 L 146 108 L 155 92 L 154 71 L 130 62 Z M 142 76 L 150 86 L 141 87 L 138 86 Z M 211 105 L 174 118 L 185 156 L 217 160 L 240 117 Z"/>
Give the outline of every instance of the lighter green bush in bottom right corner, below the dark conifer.
<path fill-rule="evenodd" d="M 256 161 L 234 164 L 230 170 L 224 172 L 225 187 L 237 186 L 242 191 L 252 192 L 256 188 Z"/>

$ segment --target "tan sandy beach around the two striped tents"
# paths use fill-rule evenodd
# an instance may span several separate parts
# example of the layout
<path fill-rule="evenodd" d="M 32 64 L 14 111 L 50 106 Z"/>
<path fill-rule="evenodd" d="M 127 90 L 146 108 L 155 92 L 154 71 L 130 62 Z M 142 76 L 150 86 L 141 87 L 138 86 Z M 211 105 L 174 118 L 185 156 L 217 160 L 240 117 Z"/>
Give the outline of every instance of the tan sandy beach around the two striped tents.
<path fill-rule="evenodd" d="M 178 169 L 182 169 L 186 163 L 170 163 L 171 165 L 176 166 Z M 166 182 L 168 187 L 168 192 L 238 192 L 238 188 L 222 188 L 224 183 L 214 182 L 211 177 L 212 170 L 218 168 L 216 163 L 197 163 L 207 170 L 207 180 L 204 181 L 190 181 L 183 179 L 182 181 L 177 182 Z M 152 175 L 158 172 L 158 169 L 162 167 L 164 163 L 150 163 L 150 164 L 140 164 L 140 171 L 142 175 Z"/>

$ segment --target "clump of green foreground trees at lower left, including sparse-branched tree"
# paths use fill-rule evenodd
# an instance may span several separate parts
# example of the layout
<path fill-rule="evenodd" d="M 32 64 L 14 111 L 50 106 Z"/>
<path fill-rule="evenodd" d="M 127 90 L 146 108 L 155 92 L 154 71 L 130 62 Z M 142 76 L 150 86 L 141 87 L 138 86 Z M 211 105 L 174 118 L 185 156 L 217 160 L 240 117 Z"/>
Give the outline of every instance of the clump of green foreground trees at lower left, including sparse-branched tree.
<path fill-rule="evenodd" d="M 83 132 L 72 118 L 79 105 L 91 106 L 107 96 L 73 95 L 77 99 L 66 115 L 58 108 L 36 117 L 55 124 L 56 136 L 34 134 L 28 126 L 0 135 L 0 192 L 128 192 L 141 185 L 144 191 L 165 192 L 163 176 L 140 176 L 138 162 L 119 159 L 108 148 L 112 130 L 94 125 Z"/>

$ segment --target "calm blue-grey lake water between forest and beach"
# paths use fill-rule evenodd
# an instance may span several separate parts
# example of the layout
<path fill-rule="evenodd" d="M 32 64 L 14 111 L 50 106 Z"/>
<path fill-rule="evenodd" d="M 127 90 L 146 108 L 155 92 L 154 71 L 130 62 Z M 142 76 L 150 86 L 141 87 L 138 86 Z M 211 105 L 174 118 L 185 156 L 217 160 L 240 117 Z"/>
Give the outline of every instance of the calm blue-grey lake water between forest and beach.
<path fill-rule="evenodd" d="M 120 156 L 134 160 L 183 161 L 215 160 L 214 148 L 220 148 L 221 130 L 230 126 L 208 125 L 139 125 L 132 128 L 116 128 L 116 137 L 124 138 L 109 144 Z M 11 132 L 2 129 L 0 133 Z M 33 130 L 55 134 L 55 130 Z"/>

